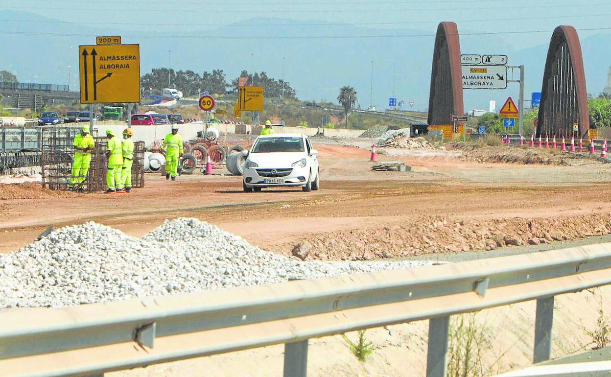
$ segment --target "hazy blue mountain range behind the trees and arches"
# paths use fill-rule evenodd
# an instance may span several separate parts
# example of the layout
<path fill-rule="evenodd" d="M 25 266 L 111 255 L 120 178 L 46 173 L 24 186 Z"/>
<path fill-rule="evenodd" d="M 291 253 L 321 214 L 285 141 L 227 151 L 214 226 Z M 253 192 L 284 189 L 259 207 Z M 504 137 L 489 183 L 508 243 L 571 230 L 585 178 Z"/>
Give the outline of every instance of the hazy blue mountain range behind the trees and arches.
<path fill-rule="evenodd" d="M 340 87 L 350 85 L 357 91 L 361 108 L 371 102 L 384 109 L 394 86 L 395 97 L 403 100 L 406 108 L 409 102 L 414 102 L 414 110 L 423 111 L 428 106 L 434 25 L 425 30 L 375 29 L 326 25 L 324 21 L 251 18 L 222 27 L 207 27 L 205 23 L 180 27 L 178 21 L 178 26 L 172 27 L 170 23 L 156 25 L 147 20 L 143 17 L 133 25 L 111 27 L 96 22 L 95 16 L 90 19 L 92 24 L 87 20 L 57 23 L 30 12 L 0 10 L 0 70 L 16 73 L 21 82 L 53 84 L 68 84 L 70 70 L 71 87 L 77 90 L 78 45 L 95 44 L 97 35 L 123 35 L 123 43 L 141 46 L 142 75 L 170 64 L 174 70 L 222 69 L 227 81 L 231 81 L 240 71 L 251 71 L 252 67 L 278 79 L 284 73 L 284 79 L 301 100 L 337 102 Z M 150 26 L 144 26 L 147 22 Z M 506 54 L 509 65 L 525 65 L 525 99 L 529 99 L 531 92 L 541 90 L 547 45 L 513 48 L 507 43 L 510 37 L 513 36 L 464 35 L 461 51 Z M 593 95 L 607 86 L 611 51 L 603 46 L 610 39 L 609 34 L 596 34 L 581 40 L 587 88 Z M 516 70 L 514 79 L 518 78 Z M 508 85 L 507 90 L 465 90 L 465 111 L 488 109 L 489 100 L 496 100 L 498 108 L 508 96 L 517 101 L 518 84 Z"/>

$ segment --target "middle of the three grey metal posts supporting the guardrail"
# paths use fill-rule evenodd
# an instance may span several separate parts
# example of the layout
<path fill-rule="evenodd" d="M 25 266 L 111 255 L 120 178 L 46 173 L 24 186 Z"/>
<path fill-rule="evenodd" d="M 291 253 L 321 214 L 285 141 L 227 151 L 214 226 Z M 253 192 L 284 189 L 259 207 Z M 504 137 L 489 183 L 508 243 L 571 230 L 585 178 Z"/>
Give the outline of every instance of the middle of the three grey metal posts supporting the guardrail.
<path fill-rule="evenodd" d="M 426 377 L 445 377 L 447 373 L 449 329 L 450 317 L 431 318 L 428 321 Z"/>

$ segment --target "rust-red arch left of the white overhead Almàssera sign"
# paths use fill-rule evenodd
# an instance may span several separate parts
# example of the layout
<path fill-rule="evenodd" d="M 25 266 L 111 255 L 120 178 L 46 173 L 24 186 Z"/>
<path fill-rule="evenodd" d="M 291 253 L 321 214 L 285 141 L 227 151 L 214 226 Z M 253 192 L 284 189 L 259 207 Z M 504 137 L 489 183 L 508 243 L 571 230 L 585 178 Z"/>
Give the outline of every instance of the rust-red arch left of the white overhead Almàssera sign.
<path fill-rule="evenodd" d="M 437 26 L 431 91 L 428 100 L 428 124 L 452 124 L 452 115 L 463 115 L 463 79 L 460 62 L 458 27 L 453 22 Z"/>

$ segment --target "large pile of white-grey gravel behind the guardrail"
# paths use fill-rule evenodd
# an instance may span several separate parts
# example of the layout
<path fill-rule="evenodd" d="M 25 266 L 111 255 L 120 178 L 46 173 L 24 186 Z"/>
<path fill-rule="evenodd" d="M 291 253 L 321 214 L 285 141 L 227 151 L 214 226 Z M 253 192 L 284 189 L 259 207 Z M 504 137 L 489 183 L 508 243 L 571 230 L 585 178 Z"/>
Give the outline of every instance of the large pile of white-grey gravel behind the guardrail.
<path fill-rule="evenodd" d="M 0 308 L 72 306 L 429 264 L 301 262 L 197 219 L 166 220 L 142 238 L 87 222 L 0 257 Z"/>

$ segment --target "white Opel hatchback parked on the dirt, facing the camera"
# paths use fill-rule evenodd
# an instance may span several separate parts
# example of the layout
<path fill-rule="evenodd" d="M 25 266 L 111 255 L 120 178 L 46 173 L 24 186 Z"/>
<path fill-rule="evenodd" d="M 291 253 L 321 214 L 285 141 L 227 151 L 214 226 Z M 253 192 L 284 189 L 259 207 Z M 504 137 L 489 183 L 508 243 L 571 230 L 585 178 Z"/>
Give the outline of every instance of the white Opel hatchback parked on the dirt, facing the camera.
<path fill-rule="evenodd" d="M 242 186 L 246 192 L 274 186 L 301 186 L 306 192 L 318 190 L 318 170 L 318 151 L 312 148 L 307 136 L 261 135 L 246 156 Z"/>

